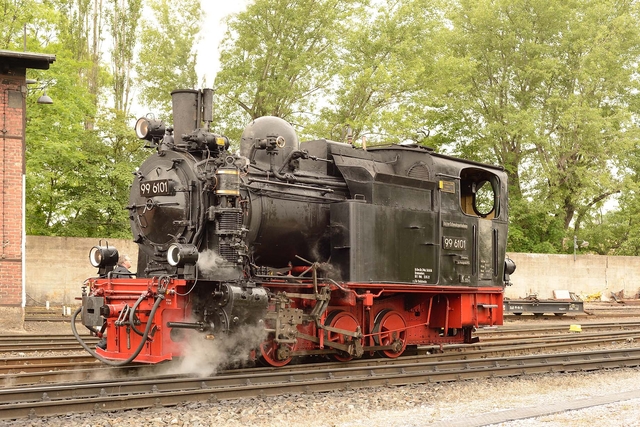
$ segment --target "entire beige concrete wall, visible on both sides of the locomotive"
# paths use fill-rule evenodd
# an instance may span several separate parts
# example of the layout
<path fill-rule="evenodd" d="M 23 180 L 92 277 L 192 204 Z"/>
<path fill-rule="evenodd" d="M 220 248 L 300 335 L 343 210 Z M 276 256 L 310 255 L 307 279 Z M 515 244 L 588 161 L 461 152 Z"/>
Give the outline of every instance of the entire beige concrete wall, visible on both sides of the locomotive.
<path fill-rule="evenodd" d="M 104 241 L 103 241 L 104 243 Z M 82 283 L 95 276 L 89 263 L 89 250 L 97 239 L 27 236 L 26 276 L 27 305 L 77 305 Z M 131 256 L 137 265 L 138 246 L 130 240 L 109 240 L 120 253 Z M 553 298 L 554 290 L 569 290 L 586 297 L 624 291 L 634 298 L 640 291 L 640 257 L 597 255 L 510 253 L 517 265 L 511 276 L 513 286 L 505 290 L 509 298 L 537 294 L 541 299 Z"/>

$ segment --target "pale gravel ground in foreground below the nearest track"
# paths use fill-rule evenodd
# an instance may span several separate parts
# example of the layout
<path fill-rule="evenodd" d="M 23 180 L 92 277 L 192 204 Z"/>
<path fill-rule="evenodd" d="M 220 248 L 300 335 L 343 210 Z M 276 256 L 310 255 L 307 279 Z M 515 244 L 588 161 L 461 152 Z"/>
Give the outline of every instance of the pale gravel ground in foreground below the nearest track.
<path fill-rule="evenodd" d="M 640 398 L 577 411 L 517 418 L 522 408 L 546 408 L 622 392 L 640 393 L 640 369 L 545 374 L 192 403 L 116 413 L 18 420 L 10 426 L 341 426 L 486 425 L 477 417 L 504 414 L 501 426 L 640 426 Z"/>

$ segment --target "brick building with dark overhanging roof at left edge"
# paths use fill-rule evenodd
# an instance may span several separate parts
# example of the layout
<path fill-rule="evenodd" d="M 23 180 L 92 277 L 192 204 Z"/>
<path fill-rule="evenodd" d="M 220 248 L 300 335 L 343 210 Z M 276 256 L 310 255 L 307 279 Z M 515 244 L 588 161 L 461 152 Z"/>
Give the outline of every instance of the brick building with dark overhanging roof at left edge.
<path fill-rule="evenodd" d="M 0 50 L 0 307 L 24 307 L 26 72 L 55 55 Z"/>

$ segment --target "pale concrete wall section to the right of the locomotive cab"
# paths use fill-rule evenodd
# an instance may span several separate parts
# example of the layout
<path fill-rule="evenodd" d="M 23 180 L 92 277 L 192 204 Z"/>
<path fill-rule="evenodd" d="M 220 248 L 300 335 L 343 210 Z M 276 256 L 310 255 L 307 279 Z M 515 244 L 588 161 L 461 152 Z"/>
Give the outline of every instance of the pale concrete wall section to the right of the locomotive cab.
<path fill-rule="evenodd" d="M 578 255 L 574 261 L 573 255 L 508 255 L 517 267 L 505 297 L 550 299 L 554 290 L 568 290 L 583 298 L 600 293 L 606 301 L 611 292 L 623 291 L 625 298 L 640 292 L 640 257 Z"/>

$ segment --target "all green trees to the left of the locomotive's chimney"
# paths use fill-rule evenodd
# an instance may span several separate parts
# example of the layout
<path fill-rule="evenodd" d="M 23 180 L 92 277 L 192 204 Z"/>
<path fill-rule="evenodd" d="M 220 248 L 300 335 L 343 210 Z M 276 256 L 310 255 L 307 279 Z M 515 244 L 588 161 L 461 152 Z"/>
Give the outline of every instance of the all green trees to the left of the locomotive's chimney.
<path fill-rule="evenodd" d="M 131 173 L 148 154 L 135 138 L 128 112 L 142 1 L 22 0 L 0 6 L 3 47 L 18 49 L 26 29 L 30 51 L 57 56 L 49 70 L 29 70 L 38 89 L 27 99 L 27 232 L 129 236 L 125 206 Z M 158 98 L 167 100 L 175 87 L 195 86 L 198 8 L 199 2 L 152 3 L 162 31 L 148 23 L 143 42 L 159 54 L 142 57 L 147 65 L 164 68 L 143 67 L 149 74 L 142 77 L 154 87 L 166 77 Z M 155 74 L 159 70 L 163 76 Z M 42 89 L 53 105 L 36 104 Z"/>

